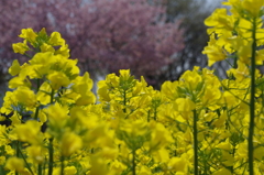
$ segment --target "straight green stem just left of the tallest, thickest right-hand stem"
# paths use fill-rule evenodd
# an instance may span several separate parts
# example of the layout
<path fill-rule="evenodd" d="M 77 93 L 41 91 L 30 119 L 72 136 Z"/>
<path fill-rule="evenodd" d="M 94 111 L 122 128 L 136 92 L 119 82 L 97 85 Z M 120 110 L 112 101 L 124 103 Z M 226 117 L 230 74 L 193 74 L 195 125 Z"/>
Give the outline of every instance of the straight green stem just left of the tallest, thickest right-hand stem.
<path fill-rule="evenodd" d="M 198 175 L 198 131 L 197 131 L 197 113 L 194 110 L 194 174 Z"/>

